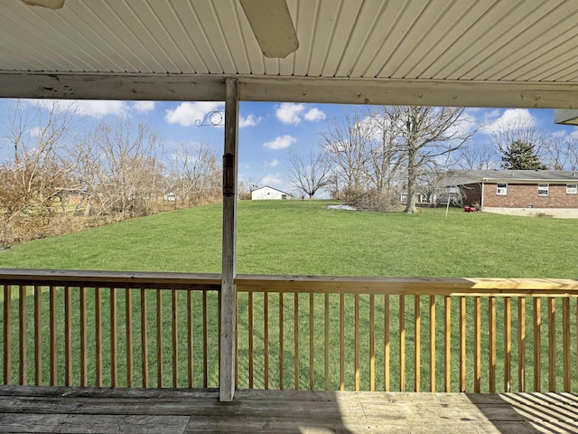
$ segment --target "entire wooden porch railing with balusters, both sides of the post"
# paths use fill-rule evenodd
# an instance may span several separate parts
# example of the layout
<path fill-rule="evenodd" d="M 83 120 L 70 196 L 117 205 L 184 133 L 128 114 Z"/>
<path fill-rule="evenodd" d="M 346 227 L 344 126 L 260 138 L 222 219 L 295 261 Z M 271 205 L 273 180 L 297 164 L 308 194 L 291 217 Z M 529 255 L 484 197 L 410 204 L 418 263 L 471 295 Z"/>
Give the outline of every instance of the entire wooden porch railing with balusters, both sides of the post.
<path fill-rule="evenodd" d="M 239 388 L 578 391 L 578 281 L 238 276 Z M 2 270 L 2 382 L 219 385 L 219 275 Z"/>

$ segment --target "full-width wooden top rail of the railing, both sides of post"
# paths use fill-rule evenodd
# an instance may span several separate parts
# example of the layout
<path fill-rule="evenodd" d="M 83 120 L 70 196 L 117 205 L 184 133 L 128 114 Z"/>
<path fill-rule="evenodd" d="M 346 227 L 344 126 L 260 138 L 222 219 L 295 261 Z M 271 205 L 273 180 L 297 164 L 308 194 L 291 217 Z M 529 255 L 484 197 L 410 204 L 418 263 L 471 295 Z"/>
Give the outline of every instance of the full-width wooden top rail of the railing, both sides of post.
<path fill-rule="evenodd" d="M 376 278 L 238 275 L 241 292 L 578 297 L 572 278 Z M 220 274 L 0 269 L 0 285 L 219 290 Z"/>

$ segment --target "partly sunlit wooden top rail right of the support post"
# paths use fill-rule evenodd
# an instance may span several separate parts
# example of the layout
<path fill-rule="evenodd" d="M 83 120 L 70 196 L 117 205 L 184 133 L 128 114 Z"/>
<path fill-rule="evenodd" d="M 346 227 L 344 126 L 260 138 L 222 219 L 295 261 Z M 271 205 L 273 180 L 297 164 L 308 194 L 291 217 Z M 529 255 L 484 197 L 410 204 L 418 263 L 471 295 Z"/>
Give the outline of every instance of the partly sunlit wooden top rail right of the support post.
<path fill-rule="evenodd" d="M 578 297 L 571 278 L 350 278 L 238 275 L 241 292 Z"/>

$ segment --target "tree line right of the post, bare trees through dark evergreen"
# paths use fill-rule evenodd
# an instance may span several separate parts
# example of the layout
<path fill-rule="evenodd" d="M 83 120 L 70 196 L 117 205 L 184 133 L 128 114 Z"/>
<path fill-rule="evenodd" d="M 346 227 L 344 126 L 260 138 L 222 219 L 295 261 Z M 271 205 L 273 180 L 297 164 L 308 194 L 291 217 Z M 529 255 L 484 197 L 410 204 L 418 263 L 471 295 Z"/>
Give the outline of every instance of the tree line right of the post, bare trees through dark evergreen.
<path fill-rule="evenodd" d="M 463 108 L 387 106 L 333 118 L 321 140 L 289 156 L 298 196 L 321 191 L 363 209 L 391 211 L 400 197 L 416 211 L 416 195 L 428 201 L 443 193 L 450 168 L 464 170 L 578 170 L 578 135 L 547 135 L 515 120 L 493 128 L 486 142 L 474 137 L 486 127 Z"/>

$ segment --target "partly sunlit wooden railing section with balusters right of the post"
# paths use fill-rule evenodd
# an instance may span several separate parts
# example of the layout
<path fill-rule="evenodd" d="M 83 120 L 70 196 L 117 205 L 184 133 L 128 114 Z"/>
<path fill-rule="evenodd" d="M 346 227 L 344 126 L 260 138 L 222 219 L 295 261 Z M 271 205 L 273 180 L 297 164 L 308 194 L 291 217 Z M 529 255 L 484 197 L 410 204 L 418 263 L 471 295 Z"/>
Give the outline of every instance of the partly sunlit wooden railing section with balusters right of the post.
<path fill-rule="evenodd" d="M 241 388 L 578 390 L 577 280 L 239 276 L 237 286 Z"/>

